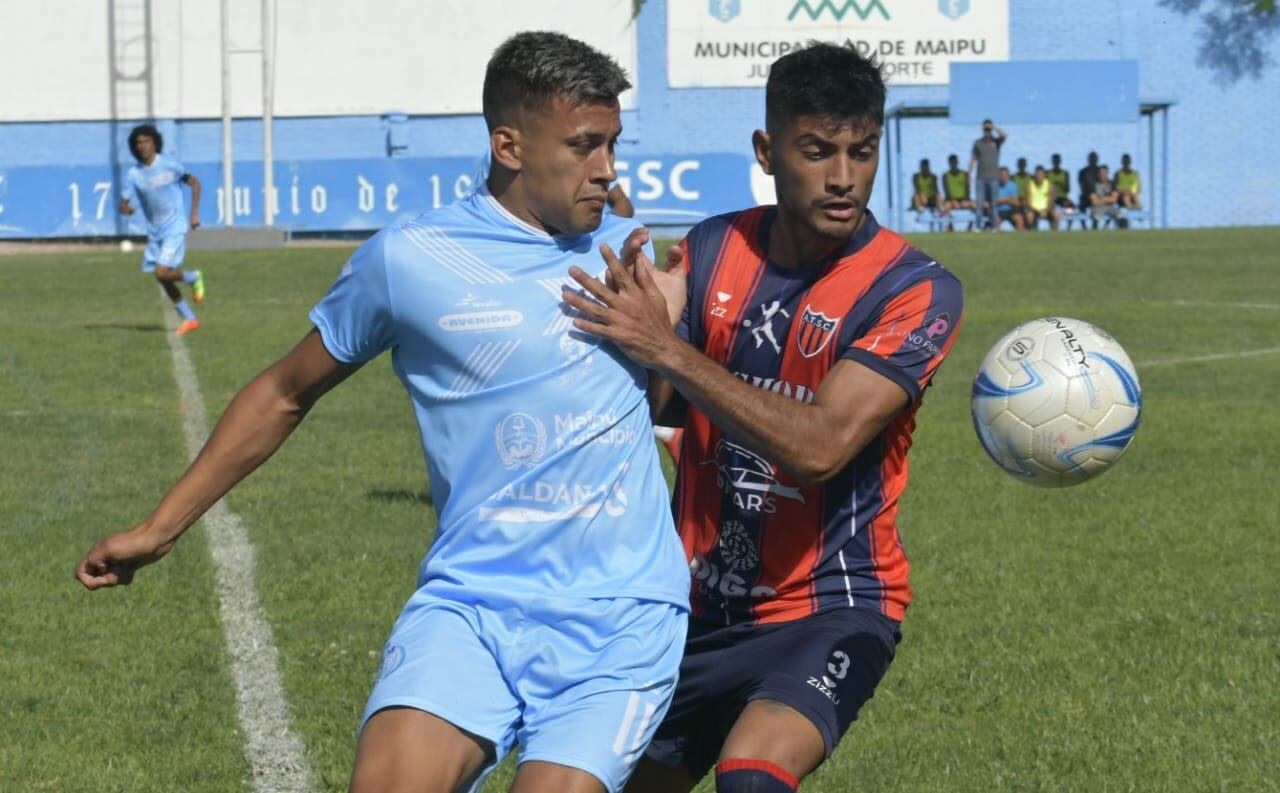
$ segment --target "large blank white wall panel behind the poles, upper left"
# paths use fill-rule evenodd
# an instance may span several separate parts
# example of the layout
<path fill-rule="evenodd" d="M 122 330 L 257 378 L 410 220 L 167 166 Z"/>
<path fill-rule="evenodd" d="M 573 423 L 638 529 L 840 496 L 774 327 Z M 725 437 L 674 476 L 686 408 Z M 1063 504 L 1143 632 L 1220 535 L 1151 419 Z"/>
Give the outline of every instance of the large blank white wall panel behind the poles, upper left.
<path fill-rule="evenodd" d="M 228 6 L 232 113 L 256 116 L 261 0 Z M 0 0 L 0 122 L 219 116 L 219 8 Z M 518 31 L 580 38 L 636 82 L 631 0 L 278 0 L 275 9 L 280 116 L 479 113 L 485 64 Z"/>

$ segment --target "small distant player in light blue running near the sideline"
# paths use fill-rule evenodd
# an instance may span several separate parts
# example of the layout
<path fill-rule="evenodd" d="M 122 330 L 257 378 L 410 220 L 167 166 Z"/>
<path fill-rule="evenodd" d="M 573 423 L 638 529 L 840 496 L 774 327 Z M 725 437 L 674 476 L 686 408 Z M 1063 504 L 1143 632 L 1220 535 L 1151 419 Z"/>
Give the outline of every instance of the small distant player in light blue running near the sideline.
<path fill-rule="evenodd" d="M 205 278 L 200 270 L 183 270 L 187 253 L 187 232 L 200 226 L 200 179 L 188 174 L 173 157 L 164 153 L 164 138 L 151 124 L 140 124 L 129 132 L 129 153 L 137 165 L 124 175 L 120 214 L 142 210 L 147 220 L 147 249 L 142 255 L 142 271 L 152 272 L 173 307 L 182 316 L 179 334 L 200 327 L 196 313 L 182 299 L 178 283 L 191 284 L 192 299 L 205 299 Z M 186 211 L 182 185 L 191 187 L 191 212 Z M 188 220 L 189 217 L 189 220 Z M 188 225 L 189 223 L 189 225 Z"/>

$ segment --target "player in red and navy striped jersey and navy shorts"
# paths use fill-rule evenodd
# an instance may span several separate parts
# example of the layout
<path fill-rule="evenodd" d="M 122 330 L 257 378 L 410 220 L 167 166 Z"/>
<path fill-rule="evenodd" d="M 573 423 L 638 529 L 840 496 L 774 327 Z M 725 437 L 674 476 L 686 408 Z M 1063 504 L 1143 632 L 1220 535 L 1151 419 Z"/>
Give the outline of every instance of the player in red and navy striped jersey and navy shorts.
<path fill-rule="evenodd" d="M 922 395 L 960 283 L 867 210 L 884 83 L 856 51 L 777 60 L 755 156 L 778 203 L 705 220 L 673 329 L 648 262 L 566 293 L 582 330 L 686 413 L 677 527 L 694 573 L 676 700 L 632 793 L 783 793 L 835 751 L 893 657 L 911 600 L 896 528 Z M 669 267 L 668 267 L 669 269 Z M 634 275 L 632 275 L 634 274 Z M 678 395 L 671 394 L 671 388 Z"/>

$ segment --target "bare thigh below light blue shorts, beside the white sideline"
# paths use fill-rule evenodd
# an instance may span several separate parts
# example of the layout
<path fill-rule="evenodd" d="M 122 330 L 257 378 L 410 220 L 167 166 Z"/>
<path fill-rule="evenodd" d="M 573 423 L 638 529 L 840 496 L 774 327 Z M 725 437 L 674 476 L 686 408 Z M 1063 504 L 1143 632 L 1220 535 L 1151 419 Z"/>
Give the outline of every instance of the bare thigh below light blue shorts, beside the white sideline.
<path fill-rule="evenodd" d="M 492 753 L 492 743 L 439 716 L 388 707 L 360 735 L 351 793 L 454 793 Z"/>

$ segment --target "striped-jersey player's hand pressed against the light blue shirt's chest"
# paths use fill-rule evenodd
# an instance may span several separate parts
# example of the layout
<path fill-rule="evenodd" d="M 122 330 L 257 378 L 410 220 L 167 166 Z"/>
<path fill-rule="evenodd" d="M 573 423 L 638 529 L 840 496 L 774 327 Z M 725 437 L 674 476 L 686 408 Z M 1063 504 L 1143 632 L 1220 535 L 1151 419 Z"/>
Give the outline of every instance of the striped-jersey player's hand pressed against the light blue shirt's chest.
<path fill-rule="evenodd" d="M 600 256 L 609 269 L 608 284 L 581 267 L 570 267 L 570 278 L 586 293 L 564 288 L 564 302 L 581 315 L 573 325 L 609 339 L 636 363 L 657 368 L 663 356 L 681 342 L 672 329 L 667 299 L 653 279 L 655 270 L 649 263 L 637 266 L 632 275 L 607 244 L 600 246 Z"/>

